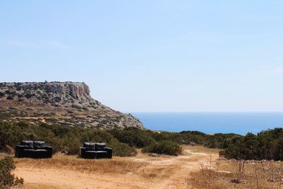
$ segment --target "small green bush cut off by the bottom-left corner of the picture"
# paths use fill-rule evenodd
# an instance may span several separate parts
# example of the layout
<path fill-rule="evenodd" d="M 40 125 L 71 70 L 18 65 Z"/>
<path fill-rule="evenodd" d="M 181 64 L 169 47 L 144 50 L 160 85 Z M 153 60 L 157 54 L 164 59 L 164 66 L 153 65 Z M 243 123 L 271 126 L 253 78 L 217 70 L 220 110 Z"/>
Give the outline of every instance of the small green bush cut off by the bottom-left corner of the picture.
<path fill-rule="evenodd" d="M 0 188 L 10 188 L 13 185 L 23 184 L 23 178 L 18 178 L 11 174 L 16 168 L 11 156 L 0 159 Z"/>

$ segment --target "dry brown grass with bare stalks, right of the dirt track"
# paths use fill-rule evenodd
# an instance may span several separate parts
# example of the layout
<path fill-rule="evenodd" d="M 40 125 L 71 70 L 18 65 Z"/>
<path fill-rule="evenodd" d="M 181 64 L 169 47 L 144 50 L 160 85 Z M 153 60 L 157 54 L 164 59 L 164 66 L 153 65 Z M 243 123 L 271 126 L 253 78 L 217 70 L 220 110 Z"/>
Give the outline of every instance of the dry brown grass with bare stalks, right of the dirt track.
<path fill-rule="evenodd" d="M 283 188 L 283 163 L 218 160 L 202 164 L 187 180 L 192 188 Z"/>

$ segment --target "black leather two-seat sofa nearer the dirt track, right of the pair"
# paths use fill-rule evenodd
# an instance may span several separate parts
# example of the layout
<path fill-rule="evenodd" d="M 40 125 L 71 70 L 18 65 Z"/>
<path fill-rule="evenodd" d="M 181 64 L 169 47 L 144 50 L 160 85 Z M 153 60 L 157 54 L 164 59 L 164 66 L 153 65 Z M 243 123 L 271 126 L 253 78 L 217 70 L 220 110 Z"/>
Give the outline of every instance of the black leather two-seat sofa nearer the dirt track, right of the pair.
<path fill-rule="evenodd" d="M 84 142 L 81 147 L 81 157 L 83 159 L 111 159 L 112 148 L 105 146 L 105 143 Z"/>

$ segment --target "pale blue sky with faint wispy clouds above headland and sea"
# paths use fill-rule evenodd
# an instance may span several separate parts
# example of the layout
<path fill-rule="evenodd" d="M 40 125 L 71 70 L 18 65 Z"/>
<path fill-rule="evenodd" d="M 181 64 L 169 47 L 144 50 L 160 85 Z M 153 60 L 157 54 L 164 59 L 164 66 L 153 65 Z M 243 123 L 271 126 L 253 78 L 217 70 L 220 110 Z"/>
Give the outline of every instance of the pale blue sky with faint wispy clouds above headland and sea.
<path fill-rule="evenodd" d="M 0 1 L 0 65 L 125 112 L 283 111 L 283 1 Z"/>

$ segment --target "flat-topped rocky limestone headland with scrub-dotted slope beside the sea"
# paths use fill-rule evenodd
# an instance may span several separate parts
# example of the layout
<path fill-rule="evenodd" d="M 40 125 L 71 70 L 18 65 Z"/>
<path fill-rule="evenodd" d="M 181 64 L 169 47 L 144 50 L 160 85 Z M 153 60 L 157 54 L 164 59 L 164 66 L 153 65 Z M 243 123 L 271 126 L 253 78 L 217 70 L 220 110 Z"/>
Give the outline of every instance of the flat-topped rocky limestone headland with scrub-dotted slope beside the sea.
<path fill-rule="evenodd" d="M 78 127 L 139 127 L 130 114 L 120 113 L 90 96 L 79 82 L 0 83 L 0 119 L 29 120 Z"/>

